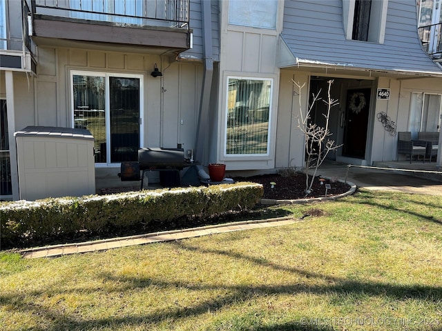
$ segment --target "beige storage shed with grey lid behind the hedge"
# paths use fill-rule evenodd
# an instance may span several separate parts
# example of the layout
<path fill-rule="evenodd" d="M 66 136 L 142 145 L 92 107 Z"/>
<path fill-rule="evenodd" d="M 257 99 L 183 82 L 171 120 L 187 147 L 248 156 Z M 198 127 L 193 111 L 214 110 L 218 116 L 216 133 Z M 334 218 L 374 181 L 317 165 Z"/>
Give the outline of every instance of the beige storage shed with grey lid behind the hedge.
<path fill-rule="evenodd" d="M 20 199 L 95 194 L 94 137 L 88 130 L 28 126 L 14 135 Z"/>

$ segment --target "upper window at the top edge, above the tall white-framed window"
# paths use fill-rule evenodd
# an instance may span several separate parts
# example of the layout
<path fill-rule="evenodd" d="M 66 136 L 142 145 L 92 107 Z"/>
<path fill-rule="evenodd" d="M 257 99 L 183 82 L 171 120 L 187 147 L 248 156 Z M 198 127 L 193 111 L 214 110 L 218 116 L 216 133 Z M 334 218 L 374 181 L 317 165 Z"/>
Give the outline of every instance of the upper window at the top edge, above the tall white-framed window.
<path fill-rule="evenodd" d="M 230 0 L 229 24 L 276 29 L 278 0 Z"/>

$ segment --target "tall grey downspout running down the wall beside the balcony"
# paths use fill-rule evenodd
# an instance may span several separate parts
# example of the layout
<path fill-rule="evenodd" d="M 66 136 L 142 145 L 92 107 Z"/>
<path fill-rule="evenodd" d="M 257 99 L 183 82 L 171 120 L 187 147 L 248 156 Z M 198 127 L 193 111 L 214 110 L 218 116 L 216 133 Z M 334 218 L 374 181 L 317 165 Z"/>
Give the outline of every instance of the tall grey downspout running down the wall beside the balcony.
<path fill-rule="evenodd" d="M 202 37 L 204 41 L 204 74 L 198 114 L 198 126 L 195 137 L 194 159 L 202 165 L 208 162 L 209 141 L 209 106 L 213 78 L 212 18 L 211 1 L 201 1 L 202 5 Z"/>

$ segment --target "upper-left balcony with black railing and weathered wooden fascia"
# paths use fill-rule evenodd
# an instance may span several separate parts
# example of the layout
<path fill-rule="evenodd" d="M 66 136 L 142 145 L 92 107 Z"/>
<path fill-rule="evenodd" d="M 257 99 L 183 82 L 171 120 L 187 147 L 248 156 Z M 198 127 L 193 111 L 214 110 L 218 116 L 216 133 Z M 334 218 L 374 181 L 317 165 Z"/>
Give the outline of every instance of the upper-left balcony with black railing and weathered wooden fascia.
<path fill-rule="evenodd" d="M 23 0 L 39 44 L 88 43 L 181 52 L 191 47 L 189 0 Z"/>

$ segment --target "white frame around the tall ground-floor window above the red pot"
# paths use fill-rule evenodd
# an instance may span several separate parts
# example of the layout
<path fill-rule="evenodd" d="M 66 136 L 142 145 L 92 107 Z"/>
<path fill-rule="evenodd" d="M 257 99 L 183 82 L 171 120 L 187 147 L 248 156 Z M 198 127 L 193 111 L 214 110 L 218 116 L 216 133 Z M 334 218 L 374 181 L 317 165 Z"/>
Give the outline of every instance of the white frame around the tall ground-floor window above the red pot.
<path fill-rule="evenodd" d="M 229 117 L 228 105 L 229 105 L 229 79 L 250 79 L 255 81 L 271 81 L 271 89 L 270 89 L 270 100 L 269 100 L 269 131 L 267 132 L 267 153 L 262 154 L 227 154 L 227 121 Z M 271 139 L 272 139 L 272 117 L 273 117 L 273 90 L 275 80 L 271 77 L 244 77 L 244 76 L 236 76 L 236 75 L 228 75 L 226 77 L 226 82 L 224 84 L 224 92 L 225 92 L 225 103 L 224 103 L 224 120 L 222 123 L 223 126 L 223 139 L 222 139 L 222 156 L 223 161 L 229 160 L 240 160 L 240 159 L 249 159 L 253 161 L 269 159 L 271 157 Z"/>

